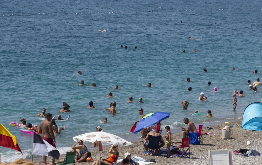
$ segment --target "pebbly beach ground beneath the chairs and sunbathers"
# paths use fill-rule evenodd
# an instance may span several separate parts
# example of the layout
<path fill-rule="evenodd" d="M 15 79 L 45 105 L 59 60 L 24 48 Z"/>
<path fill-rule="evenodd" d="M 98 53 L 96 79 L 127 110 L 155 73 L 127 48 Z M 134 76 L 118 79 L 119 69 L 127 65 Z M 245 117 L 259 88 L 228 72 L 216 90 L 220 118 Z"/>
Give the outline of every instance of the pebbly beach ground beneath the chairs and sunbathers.
<path fill-rule="evenodd" d="M 203 131 L 212 132 L 214 135 L 203 135 L 203 145 L 190 145 L 190 158 L 166 158 L 163 156 L 146 156 L 142 152 L 144 151 L 142 141 L 137 140 L 133 141 L 133 145 L 130 146 L 119 146 L 119 158 L 123 159 L 124 153 L 129 152 L 132 156 L 136 155 L 138 157 L 144 158 L 146 160 L 155 159 L 155 164 L 208 164 L 208 150 L 219 150 L 219 149 L 229 149 L 229 150 L 239 150 L 242 149 L 254 149 L 258 152 L 262 152 L 262 146 L 260 145 L 260 140 L 256 137 L 261 137 L 261 131 L 250 131 L 243 130 L 241 128 L 242 121 L 234 121 L 228 124 L 218 124 L 212 125 L 211 130 L 206 129 L 208 124 L 203 124 Z M 232 125 L 231 130 L 231 138 L 230 139 L 222 139 L 222 128 L 224 126 Z M 196 126 L 198 129 L 198 126 Z M 165 132 L 163 132 L 165 135 Z M 182 132 L 173 133 L 172 141 L 179 142 L 182 140 Z M 251 144 L 247 145 L 247 141 L 250 141 Z M 103 151 L 101 151 L 101 156 L 108 157 L 109 156 L 109 148 L 103 147 Z M 89 150 L 92 153 L 92 158 L 97 160 L 99 158 L 99 151 L 97 150 Z M 60 155 L 60 159 L 65 158 L 65 154 Z M 261 159 L 260 156 L 249 156 L 243 157 L 241 155 L 232 155 L 233 164 L 257 164 Z M 35 164 L 40 165 L 42 163 L 42 158 L 35 158 L 33 161 Z M 51 157 L 47 158 L 47 162 L 51 163 Z M 89 162 L 80 162 L 76 164 L 91 164 Z"/>

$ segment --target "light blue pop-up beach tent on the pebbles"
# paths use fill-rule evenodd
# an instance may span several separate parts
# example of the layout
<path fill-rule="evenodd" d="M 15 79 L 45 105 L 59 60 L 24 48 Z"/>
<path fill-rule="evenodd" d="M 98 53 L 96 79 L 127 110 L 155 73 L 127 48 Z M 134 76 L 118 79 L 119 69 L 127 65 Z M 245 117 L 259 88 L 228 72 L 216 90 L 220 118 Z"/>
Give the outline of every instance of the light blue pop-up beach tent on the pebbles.
<path fill-rule="evenodd" d="M 262 131 L 262 103 L 251 103 L 245 108 L 242 129 Z"/>

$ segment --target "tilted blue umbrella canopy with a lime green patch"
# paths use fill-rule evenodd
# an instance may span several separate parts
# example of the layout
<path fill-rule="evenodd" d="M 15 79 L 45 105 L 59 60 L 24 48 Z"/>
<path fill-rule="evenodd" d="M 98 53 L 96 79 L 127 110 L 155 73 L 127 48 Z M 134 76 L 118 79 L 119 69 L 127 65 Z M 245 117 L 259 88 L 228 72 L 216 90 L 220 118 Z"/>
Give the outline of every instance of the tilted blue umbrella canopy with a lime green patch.
<path fill-rule="evenodd" d="M 138 123 L 137 126 L 135 127 L 134 134 L 137 134 L 143 128 L 148 128 L 152 125 L 156 125 L 160 121 L 169 118 L 169 113 L 167 112 L 156 112 L 156 113 L 150 113 L 145 115 Z"/>

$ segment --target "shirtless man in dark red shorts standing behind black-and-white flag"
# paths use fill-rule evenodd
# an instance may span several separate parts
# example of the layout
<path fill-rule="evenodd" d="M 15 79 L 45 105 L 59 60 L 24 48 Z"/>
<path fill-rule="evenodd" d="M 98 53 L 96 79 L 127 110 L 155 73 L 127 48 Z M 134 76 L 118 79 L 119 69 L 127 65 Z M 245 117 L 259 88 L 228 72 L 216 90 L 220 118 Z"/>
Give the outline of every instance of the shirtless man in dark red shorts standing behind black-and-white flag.
<path fill-rule="evenodd" d="M 42 133 L 43 140 L 47 141 L 49 144 L 54 146 L 56 148 L 56 139 L 54 137 L 54 132 L 52 129 L 52 123 L 50 122 L 52 120 L 52 114 L 48 113 L 46 114 L 45 120 L 43 120 L 39 124 L 39 132 Z M 54 157 L 52 157 L 54 159 Z M 46 165 L 46 156 L 43 155 L 43 162 L 44 165 Z M 52 160 L 52 164 L 54 164 L 54 161 Z"/>

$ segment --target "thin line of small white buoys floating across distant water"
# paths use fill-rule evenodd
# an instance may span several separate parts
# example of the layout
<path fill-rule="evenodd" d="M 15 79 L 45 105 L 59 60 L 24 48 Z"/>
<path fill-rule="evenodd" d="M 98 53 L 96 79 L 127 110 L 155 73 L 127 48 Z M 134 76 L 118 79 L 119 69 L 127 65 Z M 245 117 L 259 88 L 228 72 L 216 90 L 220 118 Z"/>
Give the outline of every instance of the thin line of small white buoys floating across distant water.
<path fill-rule="evenodd" d="M 203 12 L 203 11 L 220 11 L 220 12 L 222 12 L 222 11 L 259 11 L 259 10 L 262 10 L 262 9 L 243 9 L 243 10 L 235 10 L 235 9 L 216 9 L 216 10 L 213 10 L 213 9 L 211 9 L 211 10 L 172 10 L 171 12 L 194 12 L 194 11 L 201 11 L 201 12 Z M 7 11 L 8 12 L 8 11 Z M 150 11 L 148 11 L 148 12 L 150 12 Z M 15 15 L 45 15 L 45 14 L 51 14 L 51 15 L 80 15 L 80 14 L 104 14 L 104 13 L 110 13 L 110 14 L 115 14 L 115 13 L 148 13 L 148 12 L 146 12 L 146 11 L 143 11 L 143 12 L 139 12 L 139 11 L 129 11 L 129 12 L 91 12 L 91 13 L 16 13 L 16 14 L 0 14 L 0 17 L 5 17 L 5 16 L 15 16 Z M 158 10 L 157 11 L 155 11 L 155 12 L 158 12 Z M 154 11 L 152 12 L 151 11 L 151 13 L 154 13 Z"/>

